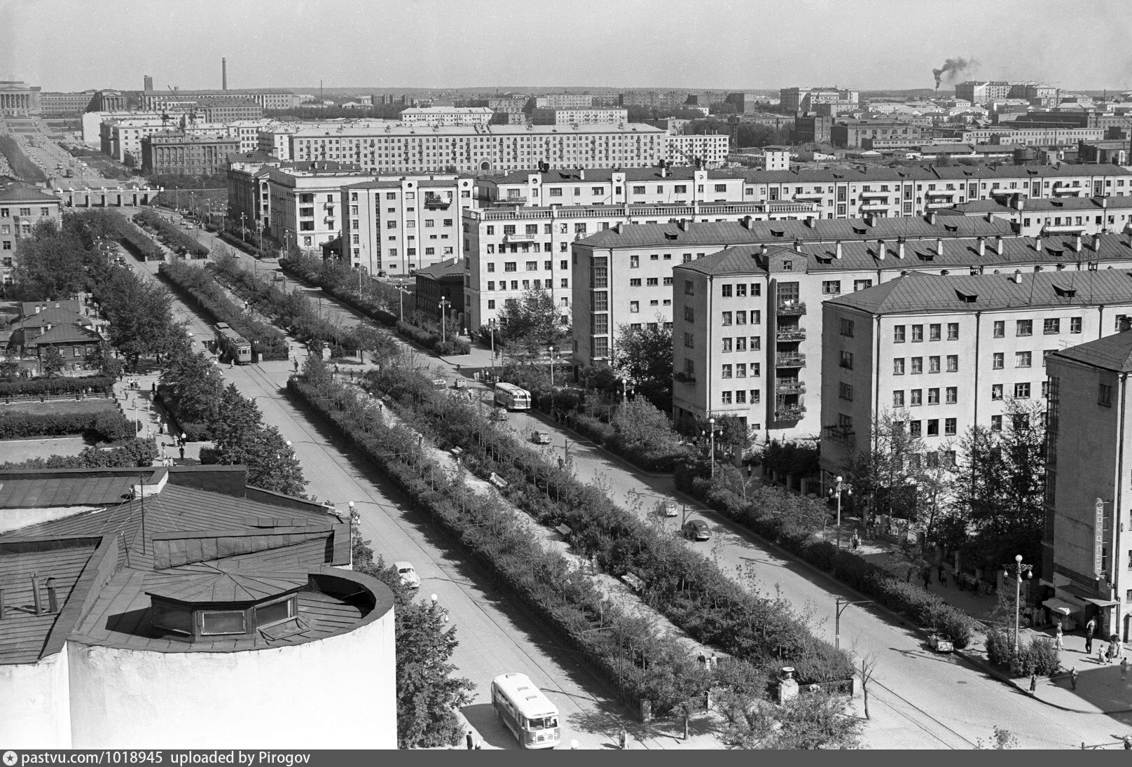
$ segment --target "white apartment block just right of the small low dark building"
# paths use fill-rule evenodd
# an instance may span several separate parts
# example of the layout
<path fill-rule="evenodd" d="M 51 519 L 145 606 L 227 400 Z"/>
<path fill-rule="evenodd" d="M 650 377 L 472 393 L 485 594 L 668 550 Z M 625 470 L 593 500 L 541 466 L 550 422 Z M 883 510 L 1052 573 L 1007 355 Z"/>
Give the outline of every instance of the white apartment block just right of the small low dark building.
<path fill-rule="evenodd" d="M 466 209 L 463 212 L 464 313 L 469 327 L 482 327 L 495 319 L 508 301 L 517 300 L 532 287 L 549 291 L 555 303 L 567 309 L 573 295 L 569 245 L 594 232 L 623 224 L 772 221 L 801 218 L 814 213 L 812 205 L 801 202 L 599 202 Z M 661 301 L 664 307 L 670 303 L 668 299 L 657 298 L 651 305 L 660 307 Z"/>

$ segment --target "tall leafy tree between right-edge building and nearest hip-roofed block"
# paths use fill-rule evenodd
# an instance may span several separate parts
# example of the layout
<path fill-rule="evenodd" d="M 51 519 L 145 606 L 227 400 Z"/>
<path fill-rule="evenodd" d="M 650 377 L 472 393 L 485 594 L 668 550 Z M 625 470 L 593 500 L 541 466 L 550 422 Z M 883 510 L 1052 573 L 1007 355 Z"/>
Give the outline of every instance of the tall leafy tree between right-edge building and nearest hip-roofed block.
<path fill-rule="evenodd" d="M 1009 399 L 1001 431 L 972 426 L 952 484 L 949 543 L 976 561 L 1002 563 L 1041 557 L 1045 520 L 1045 428 L 1039 404 Z"/>

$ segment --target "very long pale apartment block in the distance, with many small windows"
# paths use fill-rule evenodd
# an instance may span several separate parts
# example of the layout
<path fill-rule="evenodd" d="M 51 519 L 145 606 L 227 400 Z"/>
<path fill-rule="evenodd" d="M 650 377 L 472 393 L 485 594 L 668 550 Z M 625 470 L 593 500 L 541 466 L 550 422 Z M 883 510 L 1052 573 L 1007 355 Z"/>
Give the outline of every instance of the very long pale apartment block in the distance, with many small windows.
<path fill-rule="evenodd" d="M 641 167 L 667 153 L 667 133 L 651 126 L 488 126 L 428 128 L 385 124 L 300 128 L 289 136 L 294 160 L 333 160 L 384 174 L 507 172 L 552 167 Z"/>

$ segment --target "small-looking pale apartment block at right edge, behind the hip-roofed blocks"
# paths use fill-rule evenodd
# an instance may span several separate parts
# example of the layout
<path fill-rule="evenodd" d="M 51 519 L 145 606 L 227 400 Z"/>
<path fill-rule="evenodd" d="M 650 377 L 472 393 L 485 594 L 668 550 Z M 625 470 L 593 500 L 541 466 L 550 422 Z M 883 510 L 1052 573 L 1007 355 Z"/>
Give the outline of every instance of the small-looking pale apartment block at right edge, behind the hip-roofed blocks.
<path fill-rule="evenodd" d="M 1002 199 L 1002 198 L 1000 198 Z M 1020 234 L 1098 234 L 1127 232 L 1132 226 L 1132 197 L 1037 197 L 963 202 L 940 215 L 995 216 L 1013 222 Z"/>

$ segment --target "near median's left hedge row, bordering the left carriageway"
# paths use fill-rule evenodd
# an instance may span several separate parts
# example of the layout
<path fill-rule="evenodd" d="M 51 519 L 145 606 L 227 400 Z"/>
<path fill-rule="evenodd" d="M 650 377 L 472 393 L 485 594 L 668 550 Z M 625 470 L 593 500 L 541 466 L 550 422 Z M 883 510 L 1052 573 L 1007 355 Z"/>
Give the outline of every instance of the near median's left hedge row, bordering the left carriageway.
<path fill-rule="evenodd" d="M 354 391 L 328 377 L 312 380 L 305 374 L 291 378 L 288 387 L 491 572 L 509 600 L 623 697 L 651 700 L 653 710 L 664 714 L 705 691 L 707 680 L 681 646 L 604 602 L 589 578 L 572 577 L 566 559 L 533 542 L 513 512 L 449 480 L 421 450 L 413 431 L 389 426 Z"/>

